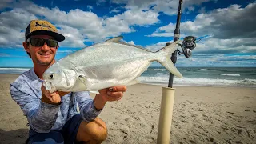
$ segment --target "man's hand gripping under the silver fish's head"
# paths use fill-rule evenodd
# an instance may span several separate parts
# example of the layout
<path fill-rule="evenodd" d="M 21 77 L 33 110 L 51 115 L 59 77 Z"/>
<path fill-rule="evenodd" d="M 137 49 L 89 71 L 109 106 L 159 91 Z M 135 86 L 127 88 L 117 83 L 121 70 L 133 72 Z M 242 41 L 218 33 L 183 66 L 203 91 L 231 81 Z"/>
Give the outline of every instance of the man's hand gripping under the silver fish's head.
<path fill-rule="evenodd" d="M 41 101 L 53 105 L 58 105 L 62 101 L 62 96 L 70 93 L 70 92 L 62 92 L 62 91 L 54 91 L 50 93 L 49 90 L 46 90 L 45 86 L 41 86 L 42 90 L 42 98 Z"/>

